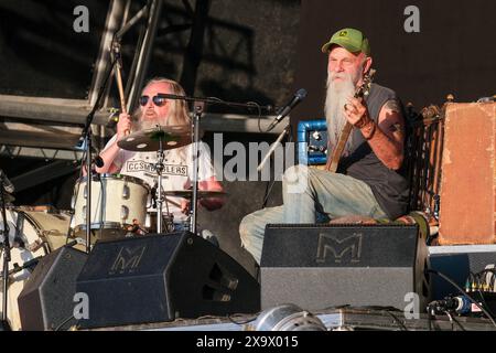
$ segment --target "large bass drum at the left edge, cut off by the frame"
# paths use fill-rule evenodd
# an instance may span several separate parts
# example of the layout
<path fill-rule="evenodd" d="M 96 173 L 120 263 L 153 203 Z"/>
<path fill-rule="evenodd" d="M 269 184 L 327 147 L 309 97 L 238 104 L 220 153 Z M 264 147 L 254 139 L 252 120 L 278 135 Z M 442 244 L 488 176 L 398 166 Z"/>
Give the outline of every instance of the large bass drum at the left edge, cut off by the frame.
<path fill-rule="evenodd" d="M 32 207 L 7 208 L 11 246 L 7 317 L 12 330 L 21 330 L 18 297 L 37 264 L 36 259 L 65 245 L 69 229 L 71 216 L 68 214 L 33 210 Z M 3 218 L 0 216 L 0 229 L 3 231 Z M 3 244 L 2 235 L 0 235 L 0 242 Z M 1 252 L 1 270 L 3 255 L 4 252 Z M 26 263 L 31 266 L 23 268 Z M 3 286 L 0 286 L 0 303 L 3 303 Z M 0 304 L 0 312 L 2 310 L 3 307 Z"/>

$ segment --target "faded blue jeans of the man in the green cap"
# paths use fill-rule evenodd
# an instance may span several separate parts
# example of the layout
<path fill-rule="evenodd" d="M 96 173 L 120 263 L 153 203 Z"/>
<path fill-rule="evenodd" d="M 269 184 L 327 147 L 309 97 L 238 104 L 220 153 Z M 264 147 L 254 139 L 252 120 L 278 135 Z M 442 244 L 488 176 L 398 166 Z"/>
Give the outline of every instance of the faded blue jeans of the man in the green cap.
<path fill-rule="evenodd" d="M 303 164 L 291 167 L 284 172 L 282 201 L 282 206 L 248 214 L 239 225 L 241 246 L 258 264 L 268 223 L 312 224 L 322 215 L 331 220 L 346 215 L 387 217 L 365 182 Z"/>

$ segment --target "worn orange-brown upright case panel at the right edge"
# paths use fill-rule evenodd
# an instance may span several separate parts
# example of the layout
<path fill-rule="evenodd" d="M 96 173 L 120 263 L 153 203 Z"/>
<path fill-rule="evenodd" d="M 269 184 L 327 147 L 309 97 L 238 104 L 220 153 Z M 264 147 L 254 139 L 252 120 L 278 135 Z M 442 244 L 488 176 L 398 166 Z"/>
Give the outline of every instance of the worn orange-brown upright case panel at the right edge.
<path fill-rule="evenodd" d="M 496 104 L 449 104 L 439 243 L 496 243 Z"/>

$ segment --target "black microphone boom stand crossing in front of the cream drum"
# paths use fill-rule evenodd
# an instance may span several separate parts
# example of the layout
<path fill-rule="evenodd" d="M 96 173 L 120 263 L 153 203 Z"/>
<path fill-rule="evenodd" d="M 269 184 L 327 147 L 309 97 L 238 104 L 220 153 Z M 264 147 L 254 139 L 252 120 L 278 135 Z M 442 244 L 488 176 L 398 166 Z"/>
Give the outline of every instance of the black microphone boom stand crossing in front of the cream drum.
<path fill-rule="evenodd" d="M 108 67 L 108 71 L 105 75 L 105 81 L 101 84 L 97 99 L 91 108 L 91 111 L 89 111 L 88 116 L 86 117 L 86 125 L 83 128 L 82 136 L 79 138 L 78 145 L 76 146 L 76 149 L 78 150 L 86 150 L 86 253 L 89 254 L 90 252 L 90 240 L 91 240 L 91 182 L 93 182 L 93 159 L 91 159 L 91 121 L 95 117 L 95 113 L 98 109 L 98 106 L 100 104 L 101 97 L 104 96 L 104 93 L 107 87 L 107 82 L 109 77 L 112 74 L 114 66 L 116 64 L 117 58 L 115 58 L 111 64 Z"/>

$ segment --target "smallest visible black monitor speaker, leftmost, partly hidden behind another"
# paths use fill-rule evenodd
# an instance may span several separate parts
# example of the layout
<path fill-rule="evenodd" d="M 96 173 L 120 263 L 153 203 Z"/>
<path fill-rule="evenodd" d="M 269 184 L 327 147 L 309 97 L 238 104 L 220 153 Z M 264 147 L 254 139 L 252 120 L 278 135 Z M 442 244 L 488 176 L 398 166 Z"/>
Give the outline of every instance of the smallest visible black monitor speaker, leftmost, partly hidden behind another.
<path fill-rule="evenodd" d="M 67 330 L 76 323 L 76 278 L 86 259 L 86 253 L 64 246 L 40 260 L 18 298 L 22 330 Z"/>

